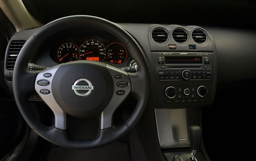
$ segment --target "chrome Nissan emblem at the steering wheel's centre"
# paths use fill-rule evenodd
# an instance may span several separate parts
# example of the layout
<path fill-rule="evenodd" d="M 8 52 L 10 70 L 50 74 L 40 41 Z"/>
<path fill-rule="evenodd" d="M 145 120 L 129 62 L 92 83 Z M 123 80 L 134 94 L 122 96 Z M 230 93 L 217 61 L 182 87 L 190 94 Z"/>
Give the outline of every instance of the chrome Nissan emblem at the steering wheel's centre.
<path fill-rule="evenodd" d="M 78 84 L 81 81 L 87 82 L 88 85 L 76 85 L 76 84 Z M 79 95 L 79 96 L 83 97 L 83 96 L 89 95 L 92 92 L 93 85 L 92 85 L 92 83 L 89 80 L 81 78 L 81 79 L 78 79 L 77 81 L 75 81 L 74 85 L 72 85 L 72 90 L 74 90 L 76 95 Z M 88 90 L 88 92 L 86 92 L 86 93 L 79 93 L 79 92 L 77 92 L 77 90 Z"/>

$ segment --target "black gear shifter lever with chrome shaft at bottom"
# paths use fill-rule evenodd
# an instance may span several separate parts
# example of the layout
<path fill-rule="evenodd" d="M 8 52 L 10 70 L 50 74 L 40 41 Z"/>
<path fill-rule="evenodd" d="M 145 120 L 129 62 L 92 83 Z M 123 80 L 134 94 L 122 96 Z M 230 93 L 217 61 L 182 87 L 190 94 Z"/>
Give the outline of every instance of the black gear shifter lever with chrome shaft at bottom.
<path fill-rule="evenodd" d="M 191 150 L 191 160 L 195 160 L 196 152 L 200 146 L 202 137 L 202 128 L 198 125 L 189 126 L 189 139 L 190 139 L 190 150 Z"/>

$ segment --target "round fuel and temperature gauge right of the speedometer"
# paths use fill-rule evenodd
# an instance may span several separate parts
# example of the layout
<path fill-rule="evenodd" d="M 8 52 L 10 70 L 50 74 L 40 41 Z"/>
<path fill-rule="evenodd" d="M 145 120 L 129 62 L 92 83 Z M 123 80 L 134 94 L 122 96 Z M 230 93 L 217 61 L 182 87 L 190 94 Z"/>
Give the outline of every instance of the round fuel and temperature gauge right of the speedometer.
<path fill-rule="evenodd" d="M 127 58 L 127 49 L 121 43 L 111 43 L 106 47 L 106 57 L 110 63 L 123 63 Z"/>

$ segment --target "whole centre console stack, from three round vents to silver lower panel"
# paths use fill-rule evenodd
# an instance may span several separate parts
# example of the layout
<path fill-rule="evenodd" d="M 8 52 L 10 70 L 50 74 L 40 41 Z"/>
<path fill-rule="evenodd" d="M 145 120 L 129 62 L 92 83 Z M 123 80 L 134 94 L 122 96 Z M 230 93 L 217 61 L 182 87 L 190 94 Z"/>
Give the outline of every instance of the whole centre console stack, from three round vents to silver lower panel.
<path fill-rule="evenodd" d="M 188 129 L 200 125 L 199 108 L 211 105 L 215 96 L 214 41 L 197 26 L 156 25 L 149 31 L 149 42 L 158 95 L 155 117 L 160 147 L 168 161 L 178 156 L 178 160 L 191 160 Z M 177 148 L 180 151 L 166 152 Z M 192 158 L 203 160 L 196 151 L 191 152 Z"/>

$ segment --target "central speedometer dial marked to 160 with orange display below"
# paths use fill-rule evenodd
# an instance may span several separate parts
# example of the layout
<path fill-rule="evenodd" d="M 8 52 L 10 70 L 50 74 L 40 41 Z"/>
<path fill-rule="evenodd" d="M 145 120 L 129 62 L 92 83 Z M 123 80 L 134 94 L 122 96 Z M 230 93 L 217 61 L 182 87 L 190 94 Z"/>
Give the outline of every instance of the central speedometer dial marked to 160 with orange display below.
<path fill-rule="evenodd" d="M 80 46 L 79 55 L 83 60 L 104 61 L 106 49 L 101 41 L 88 39 Z"/>

